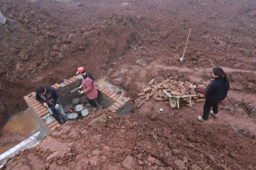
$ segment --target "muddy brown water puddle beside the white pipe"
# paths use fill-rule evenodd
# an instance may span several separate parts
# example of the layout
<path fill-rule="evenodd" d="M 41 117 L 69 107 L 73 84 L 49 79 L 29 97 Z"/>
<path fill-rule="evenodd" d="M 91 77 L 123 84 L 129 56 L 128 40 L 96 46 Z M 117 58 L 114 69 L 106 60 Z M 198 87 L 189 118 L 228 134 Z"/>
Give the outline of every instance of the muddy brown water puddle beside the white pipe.
<path fill-rule="evenodd" d="M 4 135 L 12 134 L 14 138 L 16 138 L 16 135 L 22 135 L 26 138 L 32 135 L 37 130 L 38 124 L 34 119 L 32 111 L 30 109 L 27 109 L 26 111 L 20 111 L 19 113 L 11 117 L 9 121 L 4 125 L 4 127 L 0 130 L 0 133 Z M 0 145 L 0 154 L 11 149 L 23 140 L 23 138 L 20 138 L 6 139 L 6 141 L 2 141 L 3 145 Z"/>

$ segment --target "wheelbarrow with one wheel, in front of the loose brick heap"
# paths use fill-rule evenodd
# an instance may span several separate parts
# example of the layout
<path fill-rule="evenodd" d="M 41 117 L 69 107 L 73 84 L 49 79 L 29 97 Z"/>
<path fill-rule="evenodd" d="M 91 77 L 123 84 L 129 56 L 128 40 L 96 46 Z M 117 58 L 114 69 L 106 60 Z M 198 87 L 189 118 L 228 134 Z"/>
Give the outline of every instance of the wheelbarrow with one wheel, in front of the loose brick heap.
<path fill-rule="evenodd" d="M 193 83 L 193 85 L 194 84 L 195 83 Z M 166 92 L 166 90 L 163 90 L 163 94 L 165 98 L 169 98 L 170 106 L 172 107 L 172 109 L 177 109 L 177 108 L 179 109 L 180 108 L 179 100 L 181 98 L 189 98 L 189 103 L 191 107 L 191 98 L 200 95 L 200 93 L 196 95 L 184 95 L 186 94 L 186 92 L 188 92 L 188 90 L 190 90 L 190 88 L 187 88 L 186 91 L 181 96 L 172 96 L 170 93 Z"/>

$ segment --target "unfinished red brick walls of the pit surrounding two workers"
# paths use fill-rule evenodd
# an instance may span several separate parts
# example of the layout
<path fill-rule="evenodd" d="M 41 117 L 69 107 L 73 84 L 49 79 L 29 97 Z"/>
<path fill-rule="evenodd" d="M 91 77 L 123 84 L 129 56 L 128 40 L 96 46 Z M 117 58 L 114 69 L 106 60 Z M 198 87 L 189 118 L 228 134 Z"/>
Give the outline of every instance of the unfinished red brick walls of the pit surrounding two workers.
<path fill-rule="evenodd" d="M 73 98 L 79 97 L 77 92 L 70 93 L 70 90 L 81 85 L 81 78 L 81 76 L 74 76 L 60 84 L 56 83 L 51 86 L 55 88 L 60 94 L 60 102 L 63 107 L 69 104 Z M 115 94 L 111 90 L 108 90 L 97 83 L 96 88 L 98 90 L 97 101 L 98 103 L 102 104 L 104 108 L 108 108 L 113 113 L 118 114 L 125 114 L 130 112 L 130 98 L 122 98 L 122 96 Z M 53 121 L 49 124 L 42 120 L 42 117 L 49 114 L 49 111 L 36 100 L 35 92 L 24 96 L 24 100 L 28 104 L 28 107 L 32 110 L 36 121 L 38 121 L 38 123 L 40 123 L 42 126 L 46 127 L 49 133 L 60 127 L 60 124 L 54 119 L 54 117 L 52 117 Z"/>

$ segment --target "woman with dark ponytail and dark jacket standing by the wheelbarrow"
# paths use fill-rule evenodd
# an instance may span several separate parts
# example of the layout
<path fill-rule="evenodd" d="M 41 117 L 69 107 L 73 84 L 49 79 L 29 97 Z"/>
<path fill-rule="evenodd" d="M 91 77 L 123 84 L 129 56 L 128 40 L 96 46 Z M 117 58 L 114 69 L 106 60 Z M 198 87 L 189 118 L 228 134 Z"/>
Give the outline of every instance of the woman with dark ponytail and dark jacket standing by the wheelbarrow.
<path fill-rule="evenodd" d="M 230 90 L 227 74 L 220 67 L 212 69 L 214 80 L 210 82 L 206 89 L 196 88 L 195 91 L 205 95 L 204 114 L 198 116 L 200 121 L 206 121 L 209 117 L 209 112 L 215 117 L 218 117 L 218 103 L 224 100 Z M 210 111 L 212 108 L 212 111 Z"/>

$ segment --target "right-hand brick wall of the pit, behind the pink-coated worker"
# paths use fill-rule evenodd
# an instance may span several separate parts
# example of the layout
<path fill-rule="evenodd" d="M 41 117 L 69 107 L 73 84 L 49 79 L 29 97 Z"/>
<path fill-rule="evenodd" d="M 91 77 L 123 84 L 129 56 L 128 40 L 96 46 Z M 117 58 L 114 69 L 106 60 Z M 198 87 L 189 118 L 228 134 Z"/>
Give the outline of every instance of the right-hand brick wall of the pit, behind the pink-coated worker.
<path fill-rule="evenodd" d="M 98 90 L 98 102 L 113 113 L 119 113 L 130 105 L 130 98 L 122 97 L 113 91 L 96 83 Z"/>

